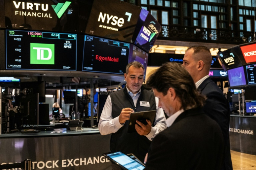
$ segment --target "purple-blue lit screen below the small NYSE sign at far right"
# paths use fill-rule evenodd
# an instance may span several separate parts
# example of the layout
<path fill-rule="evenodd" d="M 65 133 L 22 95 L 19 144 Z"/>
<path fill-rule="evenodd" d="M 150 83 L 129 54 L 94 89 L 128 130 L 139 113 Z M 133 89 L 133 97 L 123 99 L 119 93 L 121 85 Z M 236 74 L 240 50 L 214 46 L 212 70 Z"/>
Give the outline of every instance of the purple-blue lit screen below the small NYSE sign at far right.
<path fill-rule="evenodd" d="M 246 78 L 244 67 L 242 66 L 228 70 L 228 81 L 230 87 L 245 86 Z"/>

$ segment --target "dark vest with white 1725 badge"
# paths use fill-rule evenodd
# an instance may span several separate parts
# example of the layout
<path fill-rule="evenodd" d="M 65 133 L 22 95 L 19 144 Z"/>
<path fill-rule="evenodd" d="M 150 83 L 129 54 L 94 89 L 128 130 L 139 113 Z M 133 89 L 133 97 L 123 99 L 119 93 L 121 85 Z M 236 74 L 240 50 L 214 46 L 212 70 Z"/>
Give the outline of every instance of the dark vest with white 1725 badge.
<path fill-rule="evenodd" d="M 134 112 L 156 110 L 156 101 L 153 92 L 141 87 L 140 96 L 138 98 L 136 108 L 133 100 L 129 96 L 126 87 L 110 94 L 112 103 L 112 117 L 115 118 L 120 115 L 122 108 L 131 108 Z M 149 102 L 150 107 L 141 107 L 140 101 Z M 155 121 L 155 120 L 154 120 Z M 125 154 L 134 154 L 140 161 L 144 161 L 145 155 L 148 152 L 151 141 L 146 136 L 141 136 L 137 132 L 127 133 L 128 123 L 126 121 L 116 133 L 111 134 L 110 151 L 121 151 Z M 152 122 L 154 126 L 154 122 Z"/>

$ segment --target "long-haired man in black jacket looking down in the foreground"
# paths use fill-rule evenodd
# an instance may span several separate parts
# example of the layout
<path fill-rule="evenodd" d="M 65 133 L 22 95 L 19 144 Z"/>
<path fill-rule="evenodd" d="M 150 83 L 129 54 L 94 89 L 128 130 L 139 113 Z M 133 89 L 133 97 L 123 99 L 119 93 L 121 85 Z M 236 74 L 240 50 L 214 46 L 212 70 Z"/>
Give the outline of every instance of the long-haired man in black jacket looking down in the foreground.
<path fill-rule="evenodd" d="M 219 170 L 224 153 L 222 132 L 203 112 L 205 98 L 188 71 L 179 63 L 166 63 L 147 85 L 169 118 L 168 128 L 152 141 L 144 170 Z"/>

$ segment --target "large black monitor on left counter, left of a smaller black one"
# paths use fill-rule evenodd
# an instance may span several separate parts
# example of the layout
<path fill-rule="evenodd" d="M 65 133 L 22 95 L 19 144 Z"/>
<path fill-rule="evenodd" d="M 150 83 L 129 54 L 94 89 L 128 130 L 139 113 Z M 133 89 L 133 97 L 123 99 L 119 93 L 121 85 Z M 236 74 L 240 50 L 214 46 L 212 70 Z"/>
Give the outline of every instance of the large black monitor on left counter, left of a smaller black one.
<path fill-rule="evenodd" d="M 20 113 L 23 115 L 24 125 L 39 124 L 38 100 L 39 100 L 38 93 L 30 94 L 30 95 L 15 96 L 15 106 L 20 107 Z"/>

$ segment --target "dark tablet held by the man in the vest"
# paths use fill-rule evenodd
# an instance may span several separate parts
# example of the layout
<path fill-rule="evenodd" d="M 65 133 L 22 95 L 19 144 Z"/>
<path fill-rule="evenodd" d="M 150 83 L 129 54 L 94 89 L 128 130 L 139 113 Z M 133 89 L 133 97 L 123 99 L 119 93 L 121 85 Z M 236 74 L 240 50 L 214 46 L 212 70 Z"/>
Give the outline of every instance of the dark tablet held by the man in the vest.
<path fill-rule="evenodd" d="M 136 132 L 135 130 L 136 120 L 146 125 L 147 124 L 146 119 L 148 119 L 153 124 L 155 117 L 156 117 L 156 110 L 131 113 L 130 120 L 129 120 L 128 133 Z"/>

